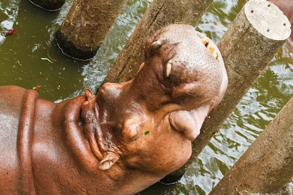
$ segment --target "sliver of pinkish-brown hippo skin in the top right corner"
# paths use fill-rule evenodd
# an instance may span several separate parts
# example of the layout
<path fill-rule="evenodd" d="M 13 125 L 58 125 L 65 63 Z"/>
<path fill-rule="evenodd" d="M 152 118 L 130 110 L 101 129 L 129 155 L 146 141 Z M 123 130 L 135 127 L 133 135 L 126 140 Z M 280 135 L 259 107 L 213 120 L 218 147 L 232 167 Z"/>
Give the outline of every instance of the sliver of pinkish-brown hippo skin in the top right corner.
<path fill-rule="evenodd" d="M 288 39 L 288 44 L 293 51 L 293 0 L 268 0 L 275 4 L 291 23 L 291 36 Z"/>

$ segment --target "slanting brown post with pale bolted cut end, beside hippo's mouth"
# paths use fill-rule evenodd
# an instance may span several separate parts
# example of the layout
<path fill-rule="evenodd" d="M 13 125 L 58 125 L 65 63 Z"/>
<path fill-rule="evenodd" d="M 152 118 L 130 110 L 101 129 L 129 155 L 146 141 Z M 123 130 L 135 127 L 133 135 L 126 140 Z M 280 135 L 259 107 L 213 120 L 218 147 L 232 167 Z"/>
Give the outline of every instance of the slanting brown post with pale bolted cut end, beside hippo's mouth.
<path fill-rule="evenodd" d="M 166 176 L 162 180 L 164 183 L 175 182 L 184 175 L 289 38 L 288 19 L 275 5 L 268 4 L 266 0 L 249 0 L 220 40 L 218 48 L 229 80 L 226 94 L 204 121 L 201 134 L 192 142 L 193 152 L 188 162 Z"/>

